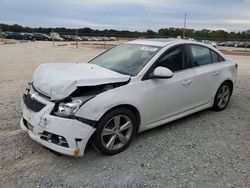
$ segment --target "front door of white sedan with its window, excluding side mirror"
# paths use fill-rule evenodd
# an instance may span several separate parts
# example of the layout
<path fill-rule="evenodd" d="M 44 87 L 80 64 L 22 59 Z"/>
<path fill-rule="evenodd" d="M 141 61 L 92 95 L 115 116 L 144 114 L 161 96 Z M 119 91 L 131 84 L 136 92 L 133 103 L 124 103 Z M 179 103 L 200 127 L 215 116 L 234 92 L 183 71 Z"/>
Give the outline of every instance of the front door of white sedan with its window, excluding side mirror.
<path fill-rule="evenodd" d="M 145 80 L 149 126 L 189 109 L 194 75 L 183 45 L 167 50 L 153 66 L 169 68 L 174 72 L 174 76 L 168 79 Z"/>

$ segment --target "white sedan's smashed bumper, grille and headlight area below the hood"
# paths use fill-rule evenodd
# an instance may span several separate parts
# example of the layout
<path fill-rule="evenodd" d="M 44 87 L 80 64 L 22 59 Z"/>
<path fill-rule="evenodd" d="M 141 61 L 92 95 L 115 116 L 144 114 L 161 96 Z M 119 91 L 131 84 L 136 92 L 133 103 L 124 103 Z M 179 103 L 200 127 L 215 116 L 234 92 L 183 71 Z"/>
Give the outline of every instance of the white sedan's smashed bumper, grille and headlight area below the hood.
<path fill-rule="evenodd" d="M 77 117 L 75 113 L 98 94 L 126 83 L 77 87 L 60 100 L 51 100 L 31 83 L 22 96 L 20 126 L 33 140 L 51 150 L 75 157 L 83 156 L 95 131 L 96 121 Z"/>

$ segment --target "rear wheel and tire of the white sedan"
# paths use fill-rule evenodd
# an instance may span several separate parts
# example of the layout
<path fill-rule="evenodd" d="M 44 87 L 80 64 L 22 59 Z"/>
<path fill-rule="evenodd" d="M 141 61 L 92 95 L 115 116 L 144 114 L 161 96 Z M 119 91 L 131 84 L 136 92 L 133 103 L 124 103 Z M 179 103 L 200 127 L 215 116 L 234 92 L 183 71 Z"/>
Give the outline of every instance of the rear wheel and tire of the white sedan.
<path fill-rule="evenodd" d="M 214 98 L 213 110 L 222 111 L 227 107 L 232 95 L 232 89 L 231 84 L 228 82 L 221 84 Z"/>

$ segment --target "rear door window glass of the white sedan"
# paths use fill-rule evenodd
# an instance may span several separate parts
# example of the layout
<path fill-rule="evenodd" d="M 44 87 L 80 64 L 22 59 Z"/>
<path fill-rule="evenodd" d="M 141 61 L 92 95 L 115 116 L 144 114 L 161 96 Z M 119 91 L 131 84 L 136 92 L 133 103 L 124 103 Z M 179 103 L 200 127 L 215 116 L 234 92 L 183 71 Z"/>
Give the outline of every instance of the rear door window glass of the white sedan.
<path fill-rule="evenodd" d="M 210 50 L 208 48 L 198 45 L 191 45 L 190 47 L 193 55 L 194 66 L 202 66 L 213 63 Z"/>

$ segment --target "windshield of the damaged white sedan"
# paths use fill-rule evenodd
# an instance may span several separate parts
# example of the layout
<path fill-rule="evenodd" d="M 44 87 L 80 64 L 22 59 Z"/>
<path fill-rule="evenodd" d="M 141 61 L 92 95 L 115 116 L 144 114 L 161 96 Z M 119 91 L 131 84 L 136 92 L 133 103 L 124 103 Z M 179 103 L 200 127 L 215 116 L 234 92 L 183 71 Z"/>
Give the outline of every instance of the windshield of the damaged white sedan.
<path fill-rule="evenodd" d="M 146 65 L 159 50 L 159 47 L 122 44 L 97 56 L 89 63 L 121 74 L 134 76 L 140 72 L 144 65 Z"/>

